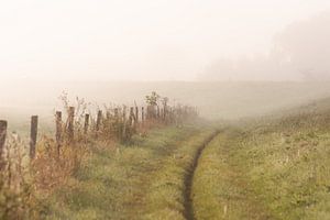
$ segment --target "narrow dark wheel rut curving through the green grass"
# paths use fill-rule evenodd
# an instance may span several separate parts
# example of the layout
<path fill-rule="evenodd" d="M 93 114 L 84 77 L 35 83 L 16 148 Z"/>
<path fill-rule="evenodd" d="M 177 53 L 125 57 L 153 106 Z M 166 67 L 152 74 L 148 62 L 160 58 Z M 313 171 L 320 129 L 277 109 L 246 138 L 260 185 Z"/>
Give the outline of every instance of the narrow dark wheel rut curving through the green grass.
<path fill-rule="evenodd" d="M 220 133 L 220 131 L 213 132 L 198 148 L 193 164 L 189 167 L 189 172 L 186 175 L 185 178 L 185 218 L 187 220 L 195 220 L 194 216 L 194 206 L 193 206 L 193 198 L 191 198 L 191 187 L 193 187 L 193 182 L 194 182 L 194 176 L 195 176 L 195 170 L 198 167 L 198 161 L 200 156 L 202 155 L 202 151 L 207 147 L 207 145 Z"/>

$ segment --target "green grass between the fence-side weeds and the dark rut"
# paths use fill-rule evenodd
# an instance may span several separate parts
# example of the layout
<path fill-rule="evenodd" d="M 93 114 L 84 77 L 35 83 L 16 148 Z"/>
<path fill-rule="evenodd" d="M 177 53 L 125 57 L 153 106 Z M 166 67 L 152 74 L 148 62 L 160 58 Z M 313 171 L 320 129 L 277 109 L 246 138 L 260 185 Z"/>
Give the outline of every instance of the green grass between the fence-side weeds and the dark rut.
<path fill-rule="evenodd" d="M 45 199 L 45 217 L 183 219 L 184 175 L 210 134 L 202 130 L 163 128 L 130 145 L 94 147 L 69 183 Z"/>

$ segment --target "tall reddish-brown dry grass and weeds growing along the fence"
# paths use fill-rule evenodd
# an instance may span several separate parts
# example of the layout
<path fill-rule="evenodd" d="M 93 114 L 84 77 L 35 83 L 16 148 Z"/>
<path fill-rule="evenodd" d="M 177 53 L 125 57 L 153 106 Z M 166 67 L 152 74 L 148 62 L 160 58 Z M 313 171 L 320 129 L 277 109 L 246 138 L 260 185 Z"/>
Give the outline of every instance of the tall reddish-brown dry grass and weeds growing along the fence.
<path fill-rule="evenodd" d="M 97 125 L 90 103 L 76 98 L 72 103 L 67 94 L 59 99 L 63 102 L 64 118 L 61 123 L 61 139 L 41 135 L 36 144 L 36 156 L 29 158 L 29 144 L 18 134 L 7 139 L 4 152 L 4 170 L 0 172 L 0 219 L 41 219 L 46 211 L 41 201 L 61 186 L 66 185 L 91 154 L 95 142 L 128 142 L 135 134 L 145 136 L 147 131 L 162 125 L 182 124 L 195 118 L 197 112 L 189 107 L 160 106 L 146 108 L 145 120 L 136 120 L 138 116 L 127 106 L 103 106 L 97 108 L 101 118 Z M 69 110 L 75 107 L 74 136 L 69 130 Z M 166 108 L 165 108 L 166 107 Z M 90 116 L 86 132 L 85 116 Z M 140 112 L 141 113 L 141 112 Z M 55 118 L 55 117 L 54 117 Z"/>

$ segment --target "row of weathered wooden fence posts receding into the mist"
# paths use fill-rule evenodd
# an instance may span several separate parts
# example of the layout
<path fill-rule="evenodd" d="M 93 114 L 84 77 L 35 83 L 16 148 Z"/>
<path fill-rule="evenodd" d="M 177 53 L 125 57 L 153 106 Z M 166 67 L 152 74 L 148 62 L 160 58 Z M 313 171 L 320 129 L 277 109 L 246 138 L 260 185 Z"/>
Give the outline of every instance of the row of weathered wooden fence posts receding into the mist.
<path fill-rule="evenodd" d="M 88 136 L 95 132 L 95 139 L 107 136 L 109 139 L 117 139 L 120 141 L 129 140 L 139 130 L 145 130 L 147 124 L 163 123 L 163 124 L 178 124 L 187 120 L 188 118 L 197 117 L 196 108 L 191 107 L 167 107 L 160 108 L 158 106 L 130 107 L 129 112 L 127 107 L 106 109 L 106 114 L 102 110 L 98 110 L 96 121 L 94 122 L 89 113 L 85 113 L 84 123 L 77 123 L 78 116 L 75 112 L 75 107 L 69 107 L 67 110 L 67 120 L 63 122 L 63 112 L 56 111 L 55 113 L 55 139 L 56 152 L 59 156 L 61 147 L 64 142 L 73 143 L 76 140 L 78 132 L 81 132 L 82 136 Z M 140 114 L 140 116 L 139 116 Z M 106 116 L 106 117 L 105 117 Z M 95 128 L 92 128 L 95 123 Z M 31 130 L 30 130 L 30 158 L 33 160 L 36 154 L 37 143 L 37 127 L 38 117 L 31 117 Z M 7 139 L 8 122 L 0 120 L 0 170 L 3 167 L 3 150 Z"/>

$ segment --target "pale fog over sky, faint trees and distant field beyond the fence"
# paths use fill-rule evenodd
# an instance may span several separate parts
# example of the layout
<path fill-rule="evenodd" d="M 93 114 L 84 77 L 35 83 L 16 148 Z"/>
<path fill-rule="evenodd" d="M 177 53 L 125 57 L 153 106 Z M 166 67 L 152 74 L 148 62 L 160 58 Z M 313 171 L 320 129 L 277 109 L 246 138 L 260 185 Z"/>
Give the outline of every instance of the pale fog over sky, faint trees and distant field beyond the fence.
<path fill-rule="evenodd" d="M 12 0 L 0 25 L 1 118 L 52 116 L 64 90 L 99 105 L 157 90 L 217 118 L 330 95 L 329 0 Z"/>

